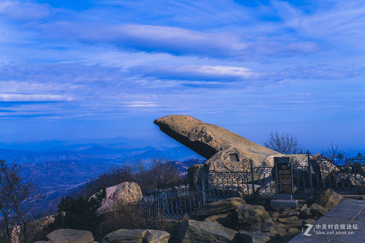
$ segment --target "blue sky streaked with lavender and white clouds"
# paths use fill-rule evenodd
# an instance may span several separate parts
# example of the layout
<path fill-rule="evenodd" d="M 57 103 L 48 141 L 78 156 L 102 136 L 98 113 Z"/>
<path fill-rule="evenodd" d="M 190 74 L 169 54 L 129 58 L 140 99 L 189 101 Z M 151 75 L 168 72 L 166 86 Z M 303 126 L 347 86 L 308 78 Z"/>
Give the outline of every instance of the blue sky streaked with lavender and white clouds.
<path fill-rule="evenodd" d="M 363 152 L 364 39 L 358 0 L 0 0 L 0 139 L 168 140 L 153 120 L 186 114 Z"/>

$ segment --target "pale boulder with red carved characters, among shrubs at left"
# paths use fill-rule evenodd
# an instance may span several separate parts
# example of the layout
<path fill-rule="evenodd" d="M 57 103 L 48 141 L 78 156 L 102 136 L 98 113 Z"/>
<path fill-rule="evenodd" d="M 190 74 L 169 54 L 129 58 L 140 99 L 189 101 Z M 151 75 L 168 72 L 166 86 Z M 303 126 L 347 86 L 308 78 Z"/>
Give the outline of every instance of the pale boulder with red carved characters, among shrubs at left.
<path fill-rule="evenodd" d="M 100 193 L 101 191 L 99 191 Z M 134 203 L 142 199 L 142 191 L 137 183 L 123 182 L 118 185 L 106 188 L 107 196 L 101 202 L 100 210 L 107 208 L 116 200 L 121 200 L 123 203 Z M 91 197 L 96 197 L 96 193 Z"/>

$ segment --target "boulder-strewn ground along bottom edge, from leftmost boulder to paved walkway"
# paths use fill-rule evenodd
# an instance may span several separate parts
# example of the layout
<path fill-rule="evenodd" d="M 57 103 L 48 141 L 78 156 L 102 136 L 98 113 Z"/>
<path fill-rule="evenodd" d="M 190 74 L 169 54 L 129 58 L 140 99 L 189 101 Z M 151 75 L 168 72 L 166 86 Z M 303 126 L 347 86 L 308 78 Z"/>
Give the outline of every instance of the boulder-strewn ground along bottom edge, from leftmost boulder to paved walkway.
<path fill-rule="evenodd" d="M 234 197 L 207 203 L 193 211 L 190 217 L 185 215 L 182 220 L 169 220 L 166 231 L 120 229 L 105 236 L 101 242 L 285 243 L 299 234 L 306 224 L 313 224 L 343 199 L 343 196 L 327 189 L 319 196 L 300 200 L 296 208 L 272 208 L 270 201 L 248 204 L 242 198 Z M 69 237 L 69 233 L 58 230 L 59 243 L 67 240 L 65 238 Z M 80 238 L 85 234 L 85 231 L 80 231 Z M 51 235 L 47 236 L 49 241 L 57 242 Z M 93 239 L 72 241 L 89 243 Z"/>

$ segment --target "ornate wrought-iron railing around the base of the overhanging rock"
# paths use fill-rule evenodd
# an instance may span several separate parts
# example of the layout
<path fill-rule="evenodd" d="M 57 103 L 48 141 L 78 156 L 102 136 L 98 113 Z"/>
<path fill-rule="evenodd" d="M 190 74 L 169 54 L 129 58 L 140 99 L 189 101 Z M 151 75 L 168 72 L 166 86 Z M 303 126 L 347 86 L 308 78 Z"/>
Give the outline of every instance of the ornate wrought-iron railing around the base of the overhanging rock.
<path fill-rule="evenodd" d="M 338 156 L 341 158 L 341 155 Z M 330 188 L 341 194 L 365 194 L 365 158 L 358 153 L 356 157 L 345 159 L 345 165 L 334 165 L 334 160 L 324 156 L 310 157 L 307 161 L 292 163 L 293 199 L 306 199 Z M 249 171 L 218 172 L 200 169 L 197 188 L 180 182 L 159 187 L 143 201 L 141 207 L 146 212 L 153 210 L 162 213 L 166 219 L 182 218 L 201 205 L 230 197 L 245 200 L 275 199 L 274 168 L 265 162 L 253 166 L 249 160 Z"/>

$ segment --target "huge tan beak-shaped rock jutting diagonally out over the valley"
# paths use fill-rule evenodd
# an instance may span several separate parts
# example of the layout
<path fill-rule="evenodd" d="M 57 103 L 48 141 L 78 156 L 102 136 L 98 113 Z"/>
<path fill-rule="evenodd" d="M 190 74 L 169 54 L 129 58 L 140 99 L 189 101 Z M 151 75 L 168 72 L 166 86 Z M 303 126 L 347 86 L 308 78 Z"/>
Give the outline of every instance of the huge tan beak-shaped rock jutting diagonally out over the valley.
<path fill-rule="evenodd" d="M 204 168 L 217 171 L 248 171 L 250 158 L 260 166 L 265 158 L 277 154 L 220 126 L 187 115 L 167 115 L 154 124 L 174 140 L 208 160 Z"/>

